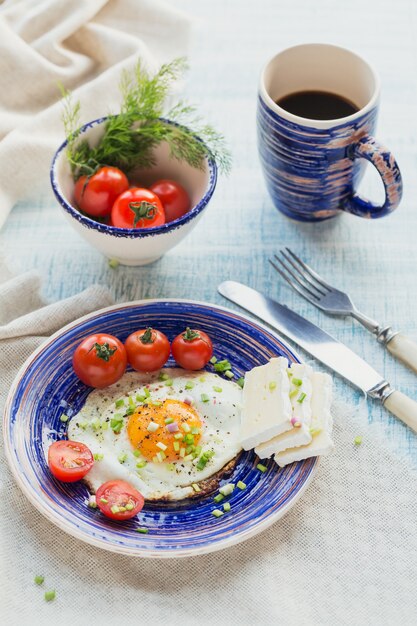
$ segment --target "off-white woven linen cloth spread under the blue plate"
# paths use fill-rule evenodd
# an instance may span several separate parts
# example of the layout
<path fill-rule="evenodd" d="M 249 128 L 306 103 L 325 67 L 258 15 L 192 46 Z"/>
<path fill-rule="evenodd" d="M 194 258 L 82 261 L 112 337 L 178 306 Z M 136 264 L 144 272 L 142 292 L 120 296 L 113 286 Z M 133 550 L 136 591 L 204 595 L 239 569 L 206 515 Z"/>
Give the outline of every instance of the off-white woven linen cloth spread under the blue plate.
<path fill-rule="evenodd" d="M 13 279 L 0 268 L 0 411 L 30 352 L 109 301 L 93 287 L 44 306 L 36 274 Z M 416 475 L 347 407 L 335 409 L 334 439 L 306 493 L 270 529 L 228 550 L 168 561 L 115 555 L 66 535 L 26 500 L 1 452 L 2 623 L 415 624 Z M 42 587 L 33 581 L 40 574 Z M 50 603 L 48 589 L 57 593 Z"/>

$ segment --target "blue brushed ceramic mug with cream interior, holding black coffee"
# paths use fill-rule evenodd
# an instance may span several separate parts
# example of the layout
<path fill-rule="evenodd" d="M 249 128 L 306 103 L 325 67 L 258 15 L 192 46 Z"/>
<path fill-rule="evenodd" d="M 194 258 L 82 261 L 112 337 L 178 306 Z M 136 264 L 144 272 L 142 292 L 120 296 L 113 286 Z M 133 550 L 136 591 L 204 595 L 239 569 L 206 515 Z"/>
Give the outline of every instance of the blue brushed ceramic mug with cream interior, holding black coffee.
<path fill-rule="evenodd" d="M 277 104 L 302 92 L 336 94 L 355 105 L 354 112 L 337 119 L 310 119 Z M 277 209 L 311 222 L 342 211 L 383 217 L 397 208 L 400 170 L 392 154 L 373 138 L 378 101 L 375 72 L 358 55 L 338 46 L 295 46 L 265 66 L 258 97 L 258 147 Z M 366 161 L 376 167 L 384 184 L 380 206 L 355 193 Z"/>

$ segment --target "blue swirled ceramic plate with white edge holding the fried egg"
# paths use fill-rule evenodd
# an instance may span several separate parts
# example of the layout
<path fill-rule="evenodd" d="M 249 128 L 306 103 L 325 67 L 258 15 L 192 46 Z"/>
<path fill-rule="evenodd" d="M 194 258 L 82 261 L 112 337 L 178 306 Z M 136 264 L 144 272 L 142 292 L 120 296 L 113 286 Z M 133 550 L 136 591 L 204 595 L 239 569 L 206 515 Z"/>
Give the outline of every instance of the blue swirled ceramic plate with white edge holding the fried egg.
<path fill-rule="evenodd" d="M 5 449 L 16 482 L 35 507 L 62 530 L 100 548 L 132 556 L 184 557 L 237 544 L 286 513 L 311 481 L 317 459 L 280 469 L 256 469 L 259 459 L 244 452 L 227 480 L 242 480 L 235 489 L 231 513 L 215 518 L 212 496 L 198 501 L 145 504 L 138 518 L 112 522 L 87 507 L 84 483 L 64 484 L 48 471 L 49 440 L 65 437 L 63 412 L 79 411 L 90 391 L 72 370 L 72 354 L 83 337 L 109 332 L 122 341 L 145 325 L 155 326 L 170 340 L 185 326 L 200 328 L 213 339 L 215 355 L 228 358 L 237 376 L 266 363 L 272 356 L 297 361 L 274 333 L 228 309 L 192 301 L 145 300 L 120 304 L 87 315 L 50 337 L 23 365 L 10 390 L 4 415 Z M 207 369 L 210 369 L 208 366 Z M 148 534 L 135 531 L 138 524 Z"/>

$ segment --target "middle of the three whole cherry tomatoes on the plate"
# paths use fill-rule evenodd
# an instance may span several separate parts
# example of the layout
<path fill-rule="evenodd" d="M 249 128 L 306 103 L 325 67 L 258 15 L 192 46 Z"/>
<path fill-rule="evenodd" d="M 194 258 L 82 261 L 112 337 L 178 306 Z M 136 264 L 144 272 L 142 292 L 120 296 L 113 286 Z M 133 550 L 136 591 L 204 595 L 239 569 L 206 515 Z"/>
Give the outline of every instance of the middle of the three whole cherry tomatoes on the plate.
<path fill-rule="evenodd" d="M 125 341 L 127 360 L 138 372 L 159 370 L 168 360 L 171 346 L 168 337 L 154 328 L 142 328 Z"/>

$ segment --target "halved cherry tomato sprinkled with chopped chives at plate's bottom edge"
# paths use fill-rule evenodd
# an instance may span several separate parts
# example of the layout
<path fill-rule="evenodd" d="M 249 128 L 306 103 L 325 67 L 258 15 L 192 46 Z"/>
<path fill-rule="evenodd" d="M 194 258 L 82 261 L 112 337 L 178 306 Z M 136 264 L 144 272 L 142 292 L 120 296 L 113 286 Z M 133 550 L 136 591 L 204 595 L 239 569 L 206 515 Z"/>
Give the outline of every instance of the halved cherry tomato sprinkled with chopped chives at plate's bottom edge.
<path fill-rule="evenodd" d="M 96 503 L 106 517 L 124 520 L 139 513 L 145 500 L 139 491 L 124 480 L 109 480 L 97 489 Z"/>

